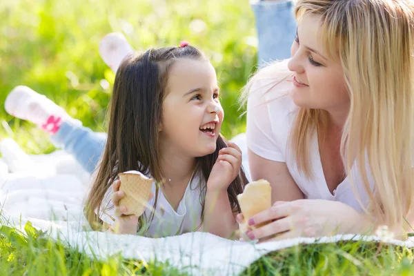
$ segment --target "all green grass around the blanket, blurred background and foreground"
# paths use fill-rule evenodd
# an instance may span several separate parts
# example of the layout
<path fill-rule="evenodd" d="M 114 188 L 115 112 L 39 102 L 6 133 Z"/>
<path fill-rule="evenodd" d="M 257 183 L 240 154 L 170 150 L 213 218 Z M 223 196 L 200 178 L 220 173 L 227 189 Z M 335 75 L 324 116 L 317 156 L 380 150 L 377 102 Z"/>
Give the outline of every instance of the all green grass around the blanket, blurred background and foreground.
<path fill-rule="evenodd" d="M 136 49 L 179 41 L 211 57 L 226 112 L 222 132 L 245 130 L 237 98 L 255 69 L 254 18 L 247 0 L 0 1 L 0 139 L 28 153 L 51 152 L 48 137 L 3 110 L 8 92 L 24 84 L 63 106 L 83 125 L 104 131 L 114 74 L 97 52 L 108 32 L 124 32 Z M 200 27 L 199 30 L 194 26 Z M 108 81 L 109 88 L 101 86 Z M 0 275 L 182 275 L 169 264 L 112 256 L 99 262 L 26 226 L 0 228 Z M 413 251 L 363 242 L 295 246 L 262 257 L 244 275 L 413 275 Z"/>

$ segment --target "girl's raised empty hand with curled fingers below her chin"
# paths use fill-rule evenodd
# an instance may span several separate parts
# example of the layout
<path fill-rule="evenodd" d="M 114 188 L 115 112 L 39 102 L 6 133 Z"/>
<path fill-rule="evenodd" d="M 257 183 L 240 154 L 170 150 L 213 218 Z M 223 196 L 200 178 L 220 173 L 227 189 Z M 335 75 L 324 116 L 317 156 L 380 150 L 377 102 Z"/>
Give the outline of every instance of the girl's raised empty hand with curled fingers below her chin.
<path fill-rule="evenodd" d="M 219 151 L 219 157 L 210 172 L 207 181 L 209 190 L 227 190 L 230 183 L 239 175 L 242 167 L 242 150 L 230 141 L 227 146 Z"/>

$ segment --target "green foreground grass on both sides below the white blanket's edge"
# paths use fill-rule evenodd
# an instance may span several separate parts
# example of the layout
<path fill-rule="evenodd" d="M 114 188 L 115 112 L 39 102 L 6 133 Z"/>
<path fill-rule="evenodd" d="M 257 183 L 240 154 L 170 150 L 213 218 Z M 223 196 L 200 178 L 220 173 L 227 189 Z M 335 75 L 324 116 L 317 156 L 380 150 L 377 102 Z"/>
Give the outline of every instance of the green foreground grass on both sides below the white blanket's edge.
<path fill-rule="evenodd" d="M 53 241 L 30 223 L 0 227 L 0 275 L 186 275 L 168 263 L 120 255 L 106 262 Z M 413 275 L 413 250 L 377 242 L 299 245 L 270 253 L 242 275 Z"/>

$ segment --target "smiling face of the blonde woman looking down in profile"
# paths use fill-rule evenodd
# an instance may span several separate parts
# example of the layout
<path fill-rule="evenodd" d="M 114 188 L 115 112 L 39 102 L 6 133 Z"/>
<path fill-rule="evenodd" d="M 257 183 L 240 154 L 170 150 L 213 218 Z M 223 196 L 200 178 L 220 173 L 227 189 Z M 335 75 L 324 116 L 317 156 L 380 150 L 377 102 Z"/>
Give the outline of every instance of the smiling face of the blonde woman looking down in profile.
<path fill-rule="evenodd" d="M 288 63 L 289 70 L 294 72 L 291 97 L 300 107 L 347 114 L 349 95 L 344 71 L 324 49 L 320 22 L 317 15 L 305 15 L 298 24 Z"/>

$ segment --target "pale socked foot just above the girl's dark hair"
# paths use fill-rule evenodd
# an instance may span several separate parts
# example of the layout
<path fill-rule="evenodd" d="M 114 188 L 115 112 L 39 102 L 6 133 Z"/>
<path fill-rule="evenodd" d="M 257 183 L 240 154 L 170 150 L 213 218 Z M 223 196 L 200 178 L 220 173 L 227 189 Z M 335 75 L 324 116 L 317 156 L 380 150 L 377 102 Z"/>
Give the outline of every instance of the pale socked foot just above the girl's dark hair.
<path fill-rule="evenodd" d="M 106 34 L 99 43 L 99 55 L 114 72 L 117 72 L 124 57 L 132 52 L 134 49 L 120 32 Z"/>

